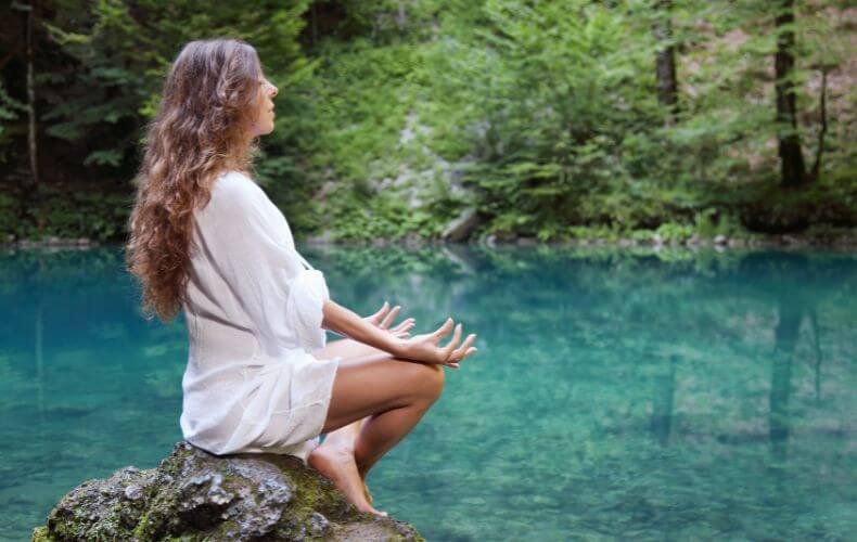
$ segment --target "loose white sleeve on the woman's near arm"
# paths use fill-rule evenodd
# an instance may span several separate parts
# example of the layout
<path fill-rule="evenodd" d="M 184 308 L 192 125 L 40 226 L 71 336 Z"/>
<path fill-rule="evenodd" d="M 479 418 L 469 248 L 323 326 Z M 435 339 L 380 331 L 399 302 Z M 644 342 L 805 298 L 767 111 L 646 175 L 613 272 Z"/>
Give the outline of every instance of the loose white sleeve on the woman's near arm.
<path fill-rule="evenodd" d="M 323 274 L 307 268 L 282 212 L 248 177 L 221 177 L 197 215 L 213 266 L 258 331 L 263 349 L 317 351 L 324 346 Z"/>

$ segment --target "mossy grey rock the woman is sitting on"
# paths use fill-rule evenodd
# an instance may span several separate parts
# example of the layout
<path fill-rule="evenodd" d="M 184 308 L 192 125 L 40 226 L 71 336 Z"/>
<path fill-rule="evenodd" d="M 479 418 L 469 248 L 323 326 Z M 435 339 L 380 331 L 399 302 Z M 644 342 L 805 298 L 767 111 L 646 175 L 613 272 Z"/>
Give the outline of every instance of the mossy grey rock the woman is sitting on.
<path fill-rule="evenodd" d="M 357 511 L 291 455 L 217 456 L 179 442 L 157 468 L 88 480 L 51 511 L 34 541 L 423 540 Z"/>

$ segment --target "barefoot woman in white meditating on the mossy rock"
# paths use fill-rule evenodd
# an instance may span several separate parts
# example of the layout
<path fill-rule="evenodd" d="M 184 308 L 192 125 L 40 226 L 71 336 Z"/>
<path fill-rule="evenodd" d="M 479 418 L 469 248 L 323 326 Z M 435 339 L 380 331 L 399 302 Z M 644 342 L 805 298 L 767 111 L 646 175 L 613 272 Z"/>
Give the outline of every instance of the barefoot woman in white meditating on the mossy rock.
<path fill-rule="evenodd" d="M 182 49 L 148 132 L 128 267 L 150 317 L 184 311 L 188 441 L 216 454 L 296 455 L 360 511 L 384 515 L 367 473 L 438 398 L 444 367 L 476 351 L 475 335 L 461 341 L 459 324 L 442 346 L 452 319 L 410 337 L 412 319 L 391 327 L 398 307 L 360 318 L 330 299 L 250 173 L 276 95 L 250 44 Z M 327 344 L 324 330 L 348 338 Z"/>

